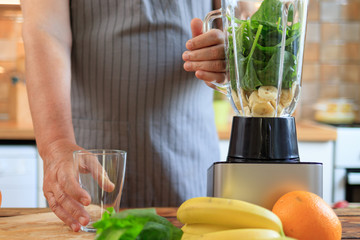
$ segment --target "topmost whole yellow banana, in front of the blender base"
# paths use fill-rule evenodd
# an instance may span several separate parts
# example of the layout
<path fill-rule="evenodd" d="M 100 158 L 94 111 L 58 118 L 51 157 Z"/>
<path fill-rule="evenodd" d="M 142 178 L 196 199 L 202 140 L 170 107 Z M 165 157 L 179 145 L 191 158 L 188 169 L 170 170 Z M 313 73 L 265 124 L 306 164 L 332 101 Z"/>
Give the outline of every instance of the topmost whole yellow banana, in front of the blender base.
<path fill-rule="evenodd" d="M 283 235 L 281 221 L 273 212 L 241 200 L 191 198 L 179 207 L 177 218 L 183 224 L 204 223 L 229 228 L 264 228 Z"/>

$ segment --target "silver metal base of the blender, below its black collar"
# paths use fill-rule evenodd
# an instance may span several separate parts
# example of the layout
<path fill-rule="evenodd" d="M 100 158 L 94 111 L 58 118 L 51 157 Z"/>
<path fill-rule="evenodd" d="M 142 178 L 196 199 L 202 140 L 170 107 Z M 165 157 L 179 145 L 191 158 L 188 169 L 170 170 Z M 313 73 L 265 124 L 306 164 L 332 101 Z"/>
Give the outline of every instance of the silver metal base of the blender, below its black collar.
<path fill-rule="evenodd" d="M 208 169 L 207 195 L 271 209 L 285 193 L 306 190 L 322 197 L 321 163 L 216 162 Z"/>

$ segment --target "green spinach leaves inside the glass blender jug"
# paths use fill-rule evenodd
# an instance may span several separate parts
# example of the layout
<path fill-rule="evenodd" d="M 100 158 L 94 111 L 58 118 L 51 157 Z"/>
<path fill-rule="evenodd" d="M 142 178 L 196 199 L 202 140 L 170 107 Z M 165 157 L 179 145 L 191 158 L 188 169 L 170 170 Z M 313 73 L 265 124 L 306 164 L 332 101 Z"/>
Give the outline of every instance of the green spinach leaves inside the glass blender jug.
<path fill-rule="evenodd" d="M 253 91 L 260 86 L 277 87 L 283 33 L 282 8 L 283 3 L 279 0 L 264 0 L 248 20 L 231 19 L 228 16 L 232 24 L 236 23 L 234 28 L 228 30 L 227 56 L 232 89 L 237 89 L 235 57 L 242 89 Z M 283 62 L 282 88 L 284 89 L 291 88 L 297 78 L 301 26 L 300 23 L 293 23 L 293 14 L 293 5 L 290 5 Z M 236 56 L 233 37 L 236 39 Z"/>

